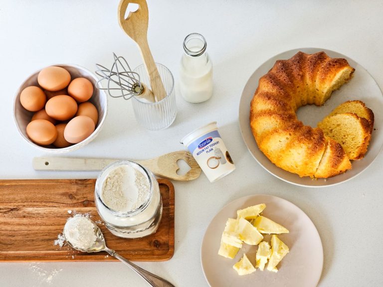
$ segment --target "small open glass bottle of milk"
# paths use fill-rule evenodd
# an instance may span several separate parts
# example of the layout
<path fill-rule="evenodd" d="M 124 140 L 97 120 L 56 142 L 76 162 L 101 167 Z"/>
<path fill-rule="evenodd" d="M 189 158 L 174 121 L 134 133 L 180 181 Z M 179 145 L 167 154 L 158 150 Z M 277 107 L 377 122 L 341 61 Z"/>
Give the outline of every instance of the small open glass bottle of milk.
<path fill-rule="evenodd" d="M 190 103 L 201 103 L 213 94 L 213 65 L 206 53 L 206 40 L 198 33 L 189 34 L 184 40 L 181 59 L 180 90 Z"/>

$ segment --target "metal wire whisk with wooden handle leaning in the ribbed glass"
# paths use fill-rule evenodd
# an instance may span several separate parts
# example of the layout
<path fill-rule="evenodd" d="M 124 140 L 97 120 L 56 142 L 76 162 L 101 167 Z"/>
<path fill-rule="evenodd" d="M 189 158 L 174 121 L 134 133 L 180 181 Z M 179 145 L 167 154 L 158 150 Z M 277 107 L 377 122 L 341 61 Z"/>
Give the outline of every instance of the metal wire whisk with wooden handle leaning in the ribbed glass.
<path fill-rule="evenodd" d="M 96 88 L 108 91 L 109 96 L 113 98 L 123 97 L 125 100 L 129 100 L 133 96 L 136 96 L 144 98 L 149 102 L 154 102 L 155 99 L 152 91 L 141 83 L 140 75 L 131 70 L 125 58 L 117 56 L 115 53 L 113 53 L 113 57 L 114 63 L 111 69 L 96 64 L 96 74 L 101 77 L 96 83 Z M 106 88 L 102 88 L 100 84 L 104 80 L 108 81 Z"/>

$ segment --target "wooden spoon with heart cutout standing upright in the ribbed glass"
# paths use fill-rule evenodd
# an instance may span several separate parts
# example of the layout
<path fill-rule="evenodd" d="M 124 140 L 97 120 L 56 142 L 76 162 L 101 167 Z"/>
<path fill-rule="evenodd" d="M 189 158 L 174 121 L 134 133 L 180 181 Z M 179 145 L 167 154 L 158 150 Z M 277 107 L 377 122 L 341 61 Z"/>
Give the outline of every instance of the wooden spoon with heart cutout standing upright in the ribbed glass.
<path fill-rule="evenodd" d="M 136 3 L 139 5 L 139 8 L 137 11 L 129 12 L 128 17 L 125 19 L 129 3 Z M 155 99 L 157 102 L 161 101 L 166 97 L 167 93 L 149 49 L 147 37 L 149 11 L 146 0 L 121 0 L 118 5 L 118 20 L 125 33 L 138 44 Z"/>

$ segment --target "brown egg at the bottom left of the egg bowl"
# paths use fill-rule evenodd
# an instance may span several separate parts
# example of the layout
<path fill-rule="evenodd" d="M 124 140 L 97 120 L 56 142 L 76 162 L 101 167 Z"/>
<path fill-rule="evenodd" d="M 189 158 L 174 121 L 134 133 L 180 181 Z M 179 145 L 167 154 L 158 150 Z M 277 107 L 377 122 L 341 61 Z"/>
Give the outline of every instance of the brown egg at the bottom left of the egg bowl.
<path fill-rule="evenodd" d="M 48 145 L 57 138 L 56 127 L 47 120 L 35 120 L 26 126 L 26 134 L 34 143 Z"/>

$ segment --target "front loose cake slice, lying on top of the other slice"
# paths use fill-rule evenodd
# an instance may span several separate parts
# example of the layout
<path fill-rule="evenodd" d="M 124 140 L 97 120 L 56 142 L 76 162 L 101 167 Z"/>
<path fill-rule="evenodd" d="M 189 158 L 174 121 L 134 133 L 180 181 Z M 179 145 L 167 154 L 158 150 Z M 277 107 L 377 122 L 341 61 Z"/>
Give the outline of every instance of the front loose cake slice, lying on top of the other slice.
<path fill-rule="evenodd" d="M 364 157 L 371 139 L 369 121 L 353 113 L 328 116 L 318 123 L 326 136 L 340 143 L 350 159 Z"/>

